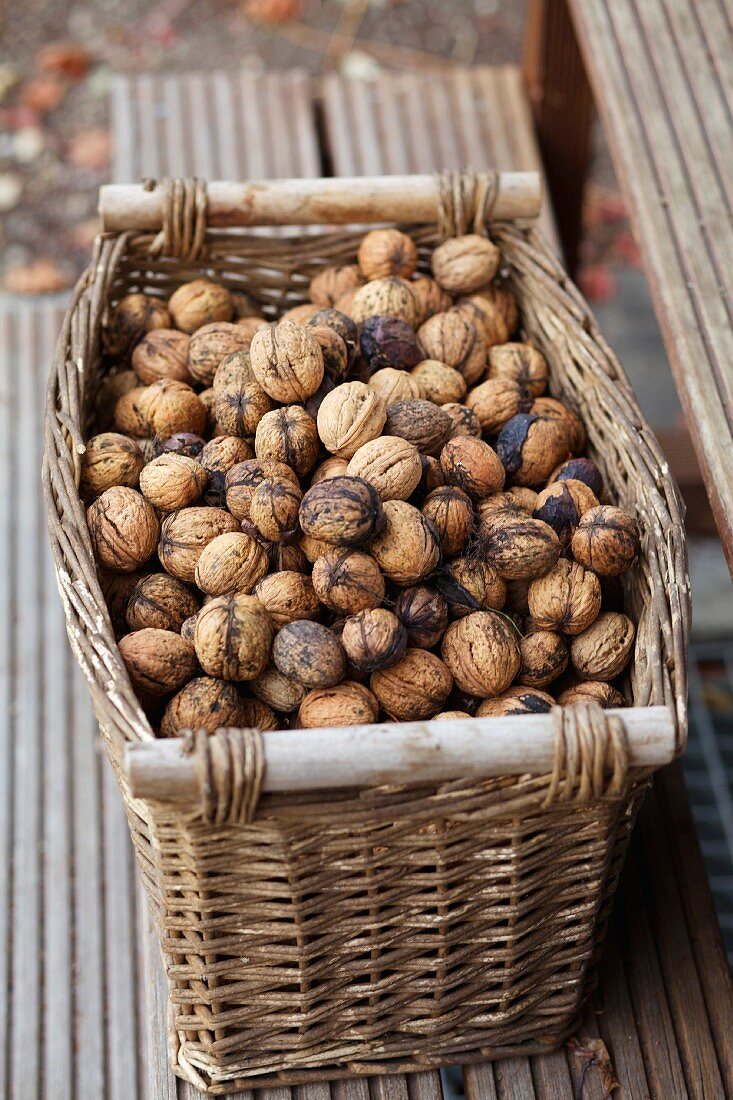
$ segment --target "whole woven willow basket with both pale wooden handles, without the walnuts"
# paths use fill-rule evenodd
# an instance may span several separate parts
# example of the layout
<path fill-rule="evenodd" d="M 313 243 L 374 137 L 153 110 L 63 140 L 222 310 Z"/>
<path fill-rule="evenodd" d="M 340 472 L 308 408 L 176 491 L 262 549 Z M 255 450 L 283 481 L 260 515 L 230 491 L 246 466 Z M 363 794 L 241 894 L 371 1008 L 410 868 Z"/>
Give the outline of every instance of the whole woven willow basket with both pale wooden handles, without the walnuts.
<path fill-rule="evenodd" d="M 273 315 L 305 299 L 322 264 L 354 261 L 360 233 L 332 228 L 349 220 L 422 221 L 408 231 L 426 267 L 446 229 L 513 209 L 502 180 L 480 204 L 475 180 L 449 184 L 212 185 L 208 228 L 200 187 L 132 189 L 129 209 L 108 215 L 132 231 L 98 240 L 58 342 L 43 473 L 58 586 L 160 932 L 172 1057 L 210 1093 L 557 1045 L 592 981 L 648 777 L 683 747 L 677 491 L 586 302 L 537 232 L 511 220 L 491 234 L 523 333 L 643 534 L 624 579 L 637 623 L 630 708 L 156 741 L 133 694 L 77 492 L 109 305 L 206 274 Z M 331 228 L 216 228 L 288 219 Z"/>

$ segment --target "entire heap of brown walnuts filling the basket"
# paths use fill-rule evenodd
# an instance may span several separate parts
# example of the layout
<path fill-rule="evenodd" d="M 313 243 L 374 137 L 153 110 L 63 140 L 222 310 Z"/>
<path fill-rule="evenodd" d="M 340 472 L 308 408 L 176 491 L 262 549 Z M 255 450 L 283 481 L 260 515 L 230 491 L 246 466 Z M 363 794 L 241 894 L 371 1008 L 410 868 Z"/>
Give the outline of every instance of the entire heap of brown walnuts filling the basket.
<path fill-rule="evenodd" d="M 272 323 L 204 278 L 110 311 L 80 488 L 162 736 L 623 705 L 637 526 L 500 258 L 380 229 Z"/>

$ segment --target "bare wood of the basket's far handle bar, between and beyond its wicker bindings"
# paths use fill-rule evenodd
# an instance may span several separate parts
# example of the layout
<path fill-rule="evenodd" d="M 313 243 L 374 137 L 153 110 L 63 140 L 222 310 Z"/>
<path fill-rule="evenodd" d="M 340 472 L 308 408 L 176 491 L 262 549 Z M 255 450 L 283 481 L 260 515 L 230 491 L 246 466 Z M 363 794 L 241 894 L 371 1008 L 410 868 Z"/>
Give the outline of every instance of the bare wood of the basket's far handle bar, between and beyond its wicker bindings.
<path fill-rule="evenodd" d="M 231 226 L 344 226 L 437 219 L 439 186 L 428 176 L 353 176 L 328 179 L 215 180 L 207 185 L 207 223 Z M 163 224 L 165 189 L 157 185 L 107 184 L 99 191 L 102 229 L 155 232 Z M 536 218 L 541 201 L 539 174 L 501 172 L 492 217 Z"/>

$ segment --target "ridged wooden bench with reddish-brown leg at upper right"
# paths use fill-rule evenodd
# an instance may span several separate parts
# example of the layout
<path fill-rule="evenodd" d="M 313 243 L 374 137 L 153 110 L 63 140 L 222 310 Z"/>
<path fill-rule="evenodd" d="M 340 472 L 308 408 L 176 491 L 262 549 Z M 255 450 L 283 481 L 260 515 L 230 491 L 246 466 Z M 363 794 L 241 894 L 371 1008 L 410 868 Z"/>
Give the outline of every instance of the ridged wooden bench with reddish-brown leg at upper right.
<path fill-rule="evenodd" d="M 730 7 L 532 0 L 527 28 L 526 76 L 561 200 L 560 237 L 572 251 L 591 120 L 584 66 L 733 572 Z"/>

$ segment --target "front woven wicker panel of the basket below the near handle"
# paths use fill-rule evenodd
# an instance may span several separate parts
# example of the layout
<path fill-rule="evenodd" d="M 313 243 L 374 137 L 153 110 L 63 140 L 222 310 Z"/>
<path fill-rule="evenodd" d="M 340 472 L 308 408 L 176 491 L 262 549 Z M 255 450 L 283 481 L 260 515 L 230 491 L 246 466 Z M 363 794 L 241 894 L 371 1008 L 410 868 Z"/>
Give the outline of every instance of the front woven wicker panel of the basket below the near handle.
<path fill-rule="evenodd" d="M 547 785 L 273 796 L 220 828 L 154 807 L 180 1066 L 294 1084 L 559 1042 L 646 780 L 549 810 Z"/>

